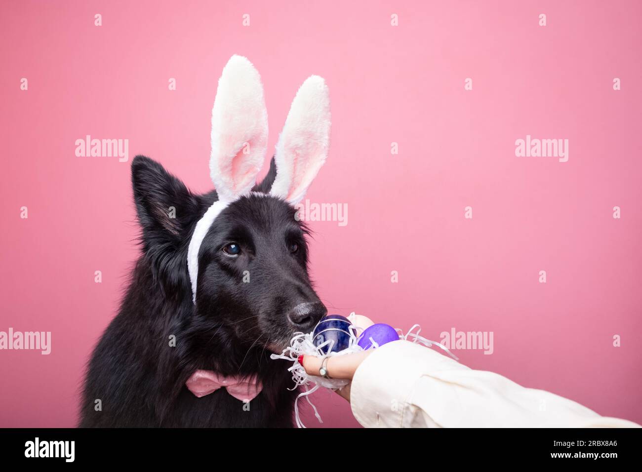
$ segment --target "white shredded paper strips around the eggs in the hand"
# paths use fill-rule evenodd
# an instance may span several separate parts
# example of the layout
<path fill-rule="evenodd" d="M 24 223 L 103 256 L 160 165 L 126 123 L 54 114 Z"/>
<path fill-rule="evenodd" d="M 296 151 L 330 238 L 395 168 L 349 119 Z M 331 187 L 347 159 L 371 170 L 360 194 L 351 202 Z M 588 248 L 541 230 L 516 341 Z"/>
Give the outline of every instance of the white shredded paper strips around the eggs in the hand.
<path fill-rule="evenodd" d="M 354 311 L 350 313 L 350 316 L 348 317 L 348 320 L 351 322 L 354 322 L 354 316 L 355 313 Z M 294 415 L 295 419 L 297 421 L 297 426 L 299 428 L 305 428 L 306 426 L 301 422 L 301 419 L 299 417 L 299 399 L 302 397 L 305 397 L 310 406 L 312 406 L 312 409 L 315 412 L 315 416 L 317 417 L 319 423 L 323 423 L 321 416 L 318 414 L 317 407 L 310 401 L 309 396 L 316 392 L 319 387 L 325 387 L 326 389 L 331 389 L 331 390 L 339 390 L 345 387 L 350 383 L 349 380 L 344 380 L 344 379 L 326 379 L 321 376 L 315 376 L 315 375 L 310 375 L 306 370 L 303 368 L 302 365 L 300 365 L 298 358 L 301 354 L 306 355 L 306 356 L 319 356 L 319 357 L 325 357 L 325 356 L 343 356 L 345 354 L 352 354 L 352 353 L 358 353 L 360 351 L 363 351 L 363 349 L 357 344 L 357 339 L 360 336 L 361 332 L 363 331 L 362 328 L 359 326 L 355 326 L 354 324 L 351 324 L 350 326 L 351 329 L 349 329 L 349 335 L 350 335 L 350 340 L 348 347 L 343 349 L 343 351 L 339 351 L 336 353 L 327 353 L 325 354 L 322 349 L 326 346 L 329 345 L 330 349 L 332 346 L 330 345 L 333 343 L 333 340 L 327 340 L 323 344 L 320 344 L 316 346 L 313 342 L 313 333 L 295 333 L 294 337 L 290 341 L 290 345 L 286 347 L 281 354 L 272 354 L 270 358 L 272 359 L 284 359 L 292 362 L 292 367 L 288 369 L 288 371 L 292 372 L 292 380 L 294 381 L 295 385 L 292 387 L 290 390 L 295 390 L 298 389 L 299 387 L 303 387 L 305 390 L 297 396 L 297 399 L 294 402 Z M 413 333 L 417 329 L 416 333 Z M 419 333 L 421 332 L 421 327 L 419 324 L 413 325 L 412 328 L 408 330 L 408 333 L 403 334 L 403 331 L 401 329 L 397 328 L 397 333 L 399 333 L 399 339 L 423 344 L 426 347 L 433 347 L 433 345 L 440 347 L 443 351 L 445 351 L 449 356 L 451 356 L 455 360 L 459 360 L 455 354 L 451 353 L 446 347 L 436 341 L 431 341 L 428 340 L 424 337 L 419 336 Z M 372 339 L 370 338 L 370 342 L 372 342 L 372 347 L 370 349 L 377 349 L 379 345 Z"/>

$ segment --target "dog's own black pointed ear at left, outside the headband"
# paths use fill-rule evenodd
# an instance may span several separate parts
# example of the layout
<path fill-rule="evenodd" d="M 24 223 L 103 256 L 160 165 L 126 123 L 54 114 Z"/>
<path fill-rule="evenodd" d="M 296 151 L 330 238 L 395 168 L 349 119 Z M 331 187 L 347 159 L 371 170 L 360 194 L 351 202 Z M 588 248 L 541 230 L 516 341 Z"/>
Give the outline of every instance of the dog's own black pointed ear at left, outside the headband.
<path fill-rule="evenodd" d="M 177 247 L 198 214 L 198 200 L 185 184 L 158 162 L 137 155 L 132 161 L 132 185 L 143 243 Z"/>

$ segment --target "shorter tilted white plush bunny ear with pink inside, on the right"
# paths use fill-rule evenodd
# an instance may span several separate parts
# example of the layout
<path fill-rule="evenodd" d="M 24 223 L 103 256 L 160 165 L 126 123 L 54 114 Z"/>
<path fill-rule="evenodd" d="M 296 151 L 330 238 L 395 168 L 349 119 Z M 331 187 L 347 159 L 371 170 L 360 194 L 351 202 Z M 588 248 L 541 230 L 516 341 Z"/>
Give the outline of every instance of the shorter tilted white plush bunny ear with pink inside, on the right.
<path fill-rule="evenodd" d="M 330 96 L 323 78 L 313 75 L 292 101 L 274 156 L 277 175 L 270 195 L 299 203 L 327 158 Z"/>

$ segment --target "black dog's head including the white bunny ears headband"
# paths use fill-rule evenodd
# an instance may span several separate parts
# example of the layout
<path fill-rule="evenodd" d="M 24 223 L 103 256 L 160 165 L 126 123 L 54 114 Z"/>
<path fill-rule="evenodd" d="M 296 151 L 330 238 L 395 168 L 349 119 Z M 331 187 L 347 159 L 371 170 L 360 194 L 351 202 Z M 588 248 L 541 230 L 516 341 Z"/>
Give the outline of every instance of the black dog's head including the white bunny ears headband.
<path fill-rule="evenodd" d="M 230 59 L 212 116 L 211 177 L 216 192 L 194 195 L 160 164 L 132 162 L 143 250 L 166 297 L 194 304 L 204 331 L 223 329 L 241 343 L 280 352 L 311 331 L 327 310 L 308 275 L 308 232 L 293 205 L 327 157 L 329 98 L 322 78 L 300 87 L 270 171 L 267 112 L 259 74 Z M 211 336 L 214 333 L 211 333 Z"/>

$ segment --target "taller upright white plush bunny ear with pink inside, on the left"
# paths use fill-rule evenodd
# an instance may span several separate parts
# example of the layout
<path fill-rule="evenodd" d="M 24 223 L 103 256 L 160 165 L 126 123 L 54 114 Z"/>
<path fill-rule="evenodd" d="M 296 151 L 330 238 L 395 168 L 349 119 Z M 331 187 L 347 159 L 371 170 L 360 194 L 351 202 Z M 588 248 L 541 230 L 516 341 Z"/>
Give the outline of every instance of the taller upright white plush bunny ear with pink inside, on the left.
<path fill-rule="evenodd" d="M 212 109 L 209 170 L 218 198 L 250 192 L 263 165 L 268 112 L 261 76 L 247 58 L 234 55 L 223 68 Z"/>

